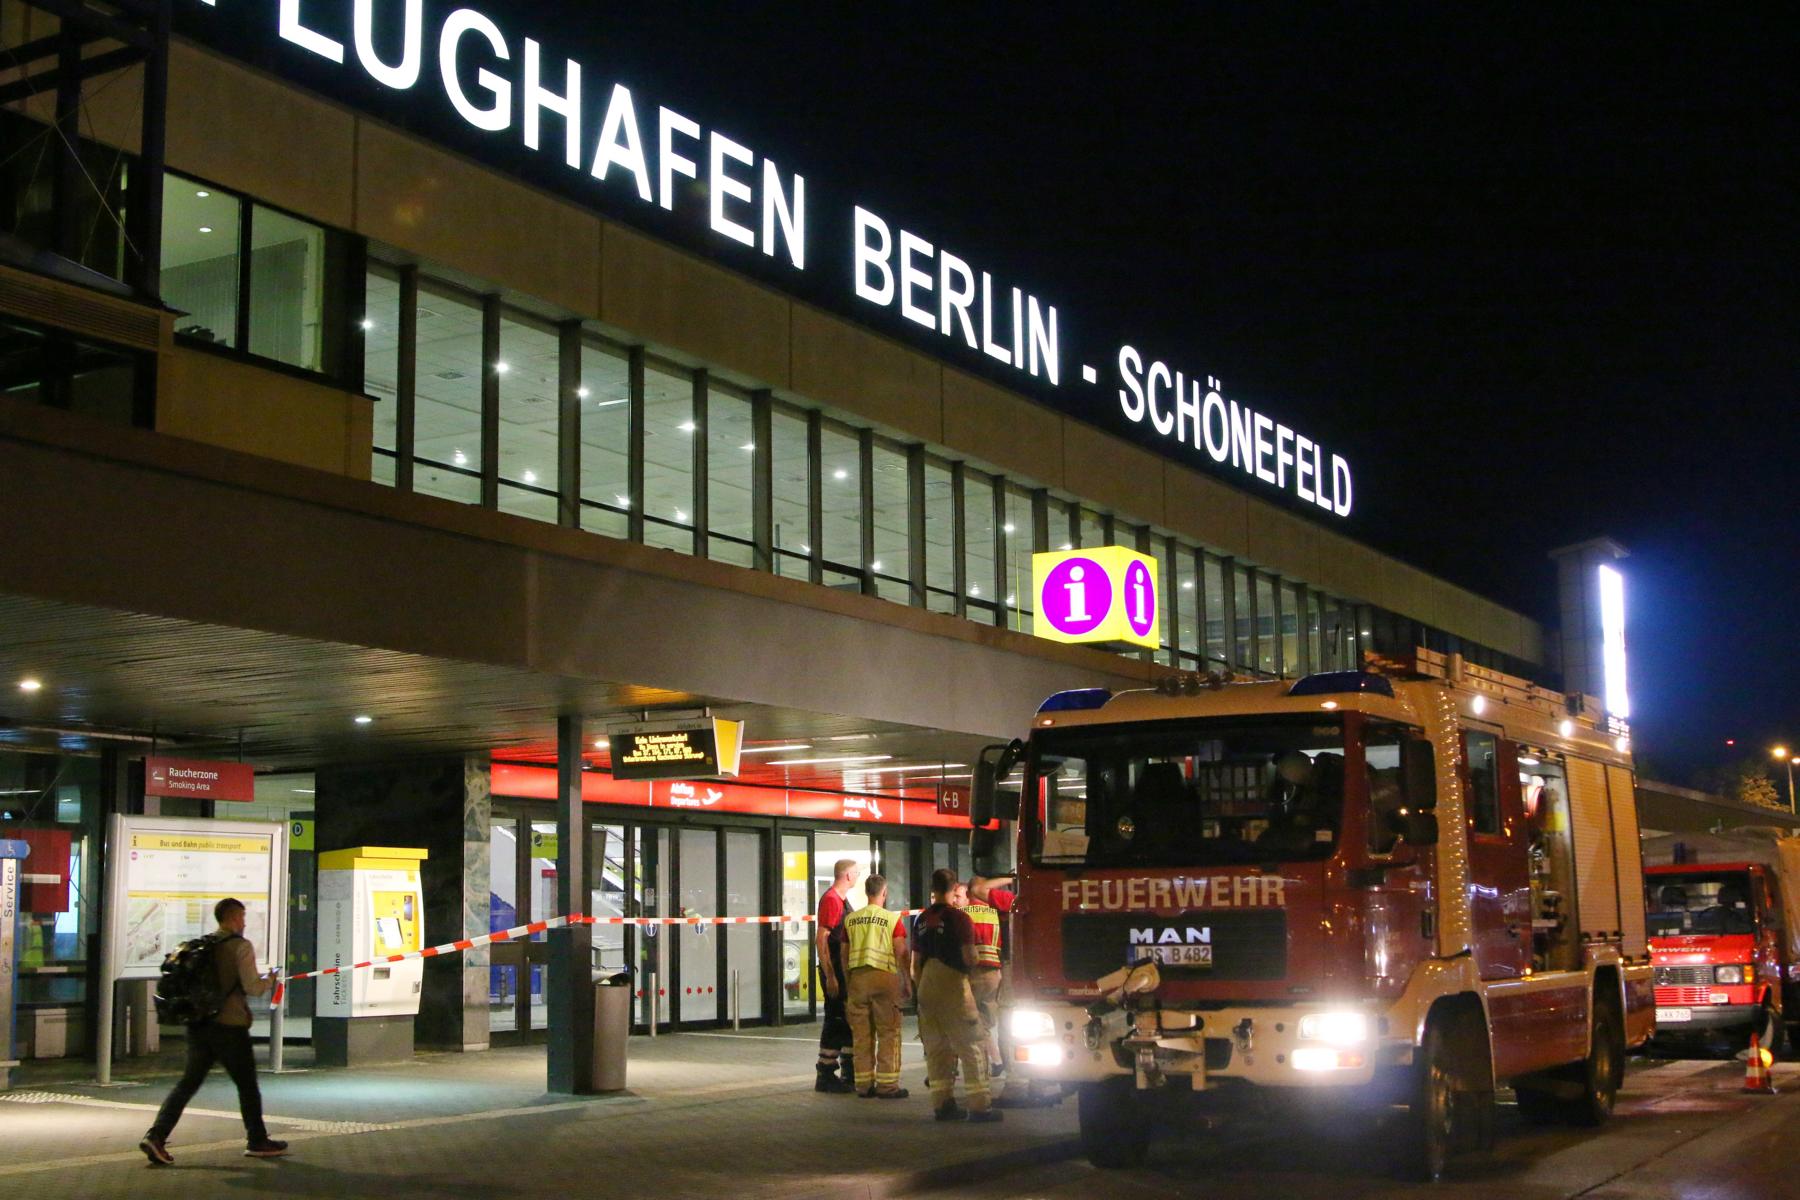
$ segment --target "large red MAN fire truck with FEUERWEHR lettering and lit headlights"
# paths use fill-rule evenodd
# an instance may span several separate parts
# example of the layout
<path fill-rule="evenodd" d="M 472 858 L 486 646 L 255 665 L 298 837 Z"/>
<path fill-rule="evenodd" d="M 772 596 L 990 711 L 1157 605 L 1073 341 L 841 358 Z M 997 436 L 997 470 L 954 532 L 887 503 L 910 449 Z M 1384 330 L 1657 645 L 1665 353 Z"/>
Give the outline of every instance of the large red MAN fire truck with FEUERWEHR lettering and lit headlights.
<path fill-rule="evenodd" d="M 1094 1164 L 1251 1096 L 1386 1108 L 1427 1178 L 1501 1085 L 1611 1112 L 1654 1020 L 1624 729 L 1460 655 L 1372 666 L 1060 693 L 983 752 L 974 824 L 1019 820 L 1013 1069 L 1078 1094 Z"/>

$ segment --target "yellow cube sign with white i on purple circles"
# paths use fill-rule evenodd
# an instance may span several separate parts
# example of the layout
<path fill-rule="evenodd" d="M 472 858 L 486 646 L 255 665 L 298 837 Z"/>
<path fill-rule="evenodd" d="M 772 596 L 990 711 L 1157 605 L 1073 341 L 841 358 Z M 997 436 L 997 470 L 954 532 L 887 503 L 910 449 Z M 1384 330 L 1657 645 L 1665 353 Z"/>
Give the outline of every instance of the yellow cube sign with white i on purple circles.
<path fill-rule="evenodd" d="M 1156 574 L 1154 558 L 1123 545 L 1033 554 L 1031 631 L 1053 642 L 1157 649 Z"/>

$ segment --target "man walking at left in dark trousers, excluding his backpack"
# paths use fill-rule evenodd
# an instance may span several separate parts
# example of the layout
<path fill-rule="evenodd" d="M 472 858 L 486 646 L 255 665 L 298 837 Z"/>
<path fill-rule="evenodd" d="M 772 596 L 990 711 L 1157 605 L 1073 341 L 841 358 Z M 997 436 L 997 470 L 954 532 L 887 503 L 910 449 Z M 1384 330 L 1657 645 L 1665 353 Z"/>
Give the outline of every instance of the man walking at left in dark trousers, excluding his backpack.
<path fill-rule="evenodd" d="M 169 1097 L 162 1101 L 157 1123 L 137 1144 L 151 1166 L 175 1162 L 167 1146 L 169 1133 L 182 1119 L 187 1101 L 207 1081 L 212 1063 L 223 1063 L 230 1081 L 238 1085 L 238 1110 L 243 1114 L 243 1130 L 248 1137 L 243 1153 L 252 1159 L 277 1159 L 288 1153 L 288 1142 L 272 1139 L 263 1124 L 263 1092 L 256 1085 L 256 1052 L 250 1049 L 250 1004 L 247 999 L 265 995 L 274 988 L 275 972 L 256 973 L 256 948 L 243 936 L 243 901 L 221 900 L 212 907 L 212 916 L 220 927 L 209 934 L 212 939 L 209 966 L 216 972 L 218 988 L 225 1000 L 216 1016 L 187 1027 L 187 1070 L 182 1072 L 182 1079 L 169 1092 Z"/>

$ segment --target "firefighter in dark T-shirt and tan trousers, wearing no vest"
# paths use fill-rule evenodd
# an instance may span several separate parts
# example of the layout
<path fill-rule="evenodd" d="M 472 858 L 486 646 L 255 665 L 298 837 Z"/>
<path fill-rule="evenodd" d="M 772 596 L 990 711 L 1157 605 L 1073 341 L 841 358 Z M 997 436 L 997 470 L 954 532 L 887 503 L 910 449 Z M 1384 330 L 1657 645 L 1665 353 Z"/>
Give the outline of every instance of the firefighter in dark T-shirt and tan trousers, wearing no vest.
<path fill-rule="evenodd" d="M 999 1121 L 988 1103 L 988 1054 L 968 972 L 976 966 L 976 928 L 950 903 L 958 882 L 949 869 L 931 876 L 932 905 L 920 914 L 913 948 L 918 1033 L 925 1042 L 925 1074 L 938 1121 Z M 956 1103 L 956 1067 L 963 1067 L 967 1112 Z"/>

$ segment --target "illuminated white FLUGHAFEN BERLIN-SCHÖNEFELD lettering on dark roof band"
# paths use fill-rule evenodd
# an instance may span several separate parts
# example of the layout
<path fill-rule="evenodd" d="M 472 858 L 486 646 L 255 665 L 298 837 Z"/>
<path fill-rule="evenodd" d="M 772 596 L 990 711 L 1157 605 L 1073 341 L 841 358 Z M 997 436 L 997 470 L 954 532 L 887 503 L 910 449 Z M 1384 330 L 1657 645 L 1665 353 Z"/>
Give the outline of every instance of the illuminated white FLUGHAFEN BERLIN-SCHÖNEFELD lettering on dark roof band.
<path fill-rule="evenodd" d="M 1082 322 L 932 230 L 571 56 L 535 5 L 182 0 L 180 27 L 1168 457 L 1348 516 L 1350 464 L 1219 380 Z M 605 9 L 596 20 L 603 20 Z M 587 31 L 583 31 L 587 36 Z M 542 40 L 540 40 L 542 38 Z M 504 219 L 504 214 L 497 214 Z"/>

